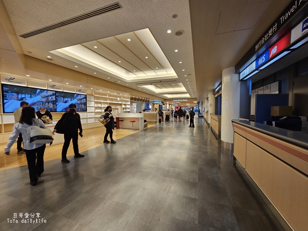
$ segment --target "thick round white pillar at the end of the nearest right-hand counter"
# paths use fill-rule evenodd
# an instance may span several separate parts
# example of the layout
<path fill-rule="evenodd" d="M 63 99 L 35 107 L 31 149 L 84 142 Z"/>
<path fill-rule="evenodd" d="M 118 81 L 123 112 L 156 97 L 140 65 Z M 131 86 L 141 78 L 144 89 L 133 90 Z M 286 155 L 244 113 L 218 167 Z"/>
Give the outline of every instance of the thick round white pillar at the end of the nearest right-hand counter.
<path fill-rule="evenodd" d="M 233 126 L 231 120 L 240 115 L 240 80 L 234 67 L 222 71 L 221 96 L 221 146 L 233 149 Z"/>

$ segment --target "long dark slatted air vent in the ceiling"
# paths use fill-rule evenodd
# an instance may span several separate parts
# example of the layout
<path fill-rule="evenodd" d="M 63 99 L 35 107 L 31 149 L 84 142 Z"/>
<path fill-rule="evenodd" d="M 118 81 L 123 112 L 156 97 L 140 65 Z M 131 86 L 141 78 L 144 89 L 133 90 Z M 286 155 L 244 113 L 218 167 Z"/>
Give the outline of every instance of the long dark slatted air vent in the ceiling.
<path fill-rule="evenodd" d="M 104 6 L 102 8 L 96 9 L 96 10 L 92 10 L 92 11 L 90 11 L 88 13 L 81 14 L 81 15 L 76 16 L 74 18 L 70 18 L 70 19 L 64 20 L 62 22 L 58 22 L 58 23 L 52 24 L 50 26 L 45 26 L 45 27 L 43 27 L 41 29 L 33 30 L 31 32 L 28 32 L 26 34 L 22 34 L 22 35 L 19 35 L 19 36 L 22 37 L 22 38 L 28 38 L 30 36 L 33 36 L 33 35 L 36 35 L 36 34 L 40 34 L 40 33 L 46 32 L 48 30 L 52 30 L 52 29 L 55 29 L 55 28 L 58 28 L 58 27 L 61 27 L 61 26 L 65 26 L 65 25 L 71 24 L 73 22 L 78 22 L 78 21 L 81 21 L 83 19 L 91 18 L 93 16 L 96 16 L 96 15 L 99 15 L 99 14 L 103 14 L 103 13 L 107 13 L 107 12 L 109 12 L 111 10 L 116 10 L 116 9 L 120 9 L 120 8 L 122 8 L 122 6 L 119 4 L 119 2 L 116 2 L 116 3 L 113 3 L 111 5 Z"/>

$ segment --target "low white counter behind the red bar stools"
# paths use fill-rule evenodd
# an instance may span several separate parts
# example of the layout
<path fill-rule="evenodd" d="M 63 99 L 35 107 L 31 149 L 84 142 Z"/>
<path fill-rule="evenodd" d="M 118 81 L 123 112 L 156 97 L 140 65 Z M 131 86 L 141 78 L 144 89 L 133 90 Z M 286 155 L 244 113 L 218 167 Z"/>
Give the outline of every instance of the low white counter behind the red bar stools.
<path fill-rule="evenodd" d="M 134 129 L 139 129 L 143 130 L 144 128 L 147 127 L 147 124 L 144 123 L 144 113 L 119 113 L 117 117 L 115 117 L 116 123 L 116 128 L 120 128 L 120 122 L 118 120 L 124 120 L 121 122 L 121 125 L 123 125 L 121 128 L 130 128 L 132 129 L 132 123 L 129 122 L 131 120 L 135 120 L 134 126 L 136 128 Z M 146 126 L 146 127 L 145 127 Z"/>

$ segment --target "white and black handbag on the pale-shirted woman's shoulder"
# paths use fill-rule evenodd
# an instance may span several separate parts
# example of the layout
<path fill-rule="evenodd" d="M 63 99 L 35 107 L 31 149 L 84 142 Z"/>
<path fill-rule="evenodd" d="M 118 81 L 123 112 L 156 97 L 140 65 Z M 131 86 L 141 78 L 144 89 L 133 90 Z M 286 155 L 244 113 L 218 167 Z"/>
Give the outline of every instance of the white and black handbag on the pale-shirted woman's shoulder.
<path fill-rule="evenodd" d="M 33 126 L 27 128 L 30 144 L 48 144 L 54 140 L 49 128 L 40 128 L 38 120 Z"/>

